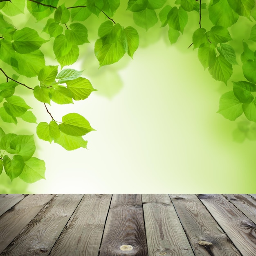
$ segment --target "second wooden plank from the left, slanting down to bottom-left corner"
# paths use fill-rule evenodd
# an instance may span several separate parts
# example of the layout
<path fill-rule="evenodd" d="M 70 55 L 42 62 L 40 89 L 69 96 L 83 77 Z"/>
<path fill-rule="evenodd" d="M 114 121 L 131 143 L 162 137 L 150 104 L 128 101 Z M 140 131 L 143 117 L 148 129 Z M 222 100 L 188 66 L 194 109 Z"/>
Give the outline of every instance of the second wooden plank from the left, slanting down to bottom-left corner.
<path fill-rule="evenodd" d="M 0 253 L 24 229 L 53 195 L 28 195 L 0 217 Z"/>

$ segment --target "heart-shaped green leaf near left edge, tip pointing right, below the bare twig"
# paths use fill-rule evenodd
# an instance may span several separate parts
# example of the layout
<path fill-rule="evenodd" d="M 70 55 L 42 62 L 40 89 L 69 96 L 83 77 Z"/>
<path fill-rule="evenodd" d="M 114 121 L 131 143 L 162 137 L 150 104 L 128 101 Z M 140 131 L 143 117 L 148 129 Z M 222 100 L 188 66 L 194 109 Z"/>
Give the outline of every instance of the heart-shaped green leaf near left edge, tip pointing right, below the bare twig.
<path fill-rule="evenodd" d="M 4 102 L 4 109 L 6 112 L 13 116 L 13 117 L 19 117 L 23 115 L 29 108 L 24 99 L 22 99 L 19 96 L 11 96 L 9 98 L 6 98 L 7 102 Z"/>

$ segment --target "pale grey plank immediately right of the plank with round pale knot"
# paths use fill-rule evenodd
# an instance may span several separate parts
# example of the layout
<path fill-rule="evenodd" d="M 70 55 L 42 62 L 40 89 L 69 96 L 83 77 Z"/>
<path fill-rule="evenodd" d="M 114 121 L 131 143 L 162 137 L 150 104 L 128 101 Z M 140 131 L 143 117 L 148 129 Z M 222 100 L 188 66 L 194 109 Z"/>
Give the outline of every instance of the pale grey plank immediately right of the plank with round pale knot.
<path fill-rule="evenodd" d="M 148 256 L 194 256 L 167 194 L 143 194 Z"/>

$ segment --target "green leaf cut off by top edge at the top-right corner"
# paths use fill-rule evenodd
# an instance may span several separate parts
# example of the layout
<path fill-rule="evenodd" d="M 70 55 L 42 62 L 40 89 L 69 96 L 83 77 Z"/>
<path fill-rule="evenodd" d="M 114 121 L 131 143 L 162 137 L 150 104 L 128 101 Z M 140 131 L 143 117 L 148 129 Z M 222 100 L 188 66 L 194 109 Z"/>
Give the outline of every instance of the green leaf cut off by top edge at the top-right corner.
<path fill-rule="evenodd" d="M 250 19 L 255 0 L 228 0 L 230 7 L 240 16 Z"/>

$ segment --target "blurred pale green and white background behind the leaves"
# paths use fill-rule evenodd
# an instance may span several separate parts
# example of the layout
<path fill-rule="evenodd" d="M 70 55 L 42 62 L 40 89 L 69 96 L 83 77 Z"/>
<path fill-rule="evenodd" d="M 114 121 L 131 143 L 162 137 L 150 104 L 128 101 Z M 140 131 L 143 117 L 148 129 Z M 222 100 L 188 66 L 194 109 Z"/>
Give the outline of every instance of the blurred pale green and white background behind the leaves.
<path fill-rule="evenodd" d="M 256 142 L 236 143 L 232 137 L 236 121 L 216 113 L 219 98 L 231 90 L 231 82 L 226 87 L 213 80 L 198 61 L 197 51 L 187 49 L 198 27 L 198 13 L 189 14 L 184 36 L 170 46 L 168 30 L 159 28 L 160 23 L 146 32 L 134 25 L 132 13 L 125 9 L 123 2 L 114 20 L 138 29 L 140 47 L 134 59 L 125 56 L 99 69 L 93 45 L 105 17 L 90 17 L 85 25 L 91 44 L 80 47 L 81 58 L 71 67 L 84 70 L 83 76 L 98 91 L 74 105 L 52 103 L 49 107 L 57 120 L 78 112 L 90 121 L 97 131 L 84 137 L 88 150 L 66 151 L 35 136 L 36 157 L 46 162 L 46 180 L 26 186 L 16 179 L 16 184 L 5 186 L 9 191 L 0 187 L 0 192 L 255 193 Z M 240 19 L 247 27 L 248 21 Z M 204 22 L 206 26 L 209 23 L 207 19 Z M 39 23 L 27 14 L 27 20 L 19 26 L 40 29 Z M 234 34 L 238 38 L 247 36 L 245 29 L 238 32 L 234 27 L 230 31 L 241 33 Z M 41 36 L 47 39 L 45 33 Z M 49 45 L 43 45 L 42 50 L 46 54 Z M 46 58 L 46 65 L 56 64 L 53 58 Z M 240 76 L 234 69 L 235 81 Z M 36 79 L 31 81 L 38 83 Z M 43 104 L 27 96 L 24 88 L 18 92 L 34 106 L 38 123 L 50 121 Z M 20 123 L 17 127 L 11 125 L 11 129 L 29 134 L 34 133 L 36 125 Z M 1 175 L 1 182 L 6 184 L 6 178 Z"/>

